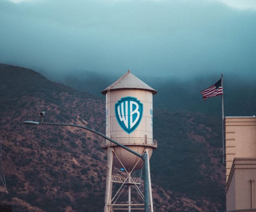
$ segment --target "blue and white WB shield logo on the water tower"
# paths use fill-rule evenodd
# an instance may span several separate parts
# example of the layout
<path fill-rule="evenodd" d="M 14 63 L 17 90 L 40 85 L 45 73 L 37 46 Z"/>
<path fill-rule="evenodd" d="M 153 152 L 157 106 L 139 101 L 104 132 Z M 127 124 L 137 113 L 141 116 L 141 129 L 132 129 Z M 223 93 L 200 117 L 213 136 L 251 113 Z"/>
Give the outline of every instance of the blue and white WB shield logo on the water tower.
<path fill-rule="evenodd" d="M 115 104 L 117 122 L 128 134 L 139 126 L 142 114 L 143 104 L 137 98 L 124 97 Z"/>

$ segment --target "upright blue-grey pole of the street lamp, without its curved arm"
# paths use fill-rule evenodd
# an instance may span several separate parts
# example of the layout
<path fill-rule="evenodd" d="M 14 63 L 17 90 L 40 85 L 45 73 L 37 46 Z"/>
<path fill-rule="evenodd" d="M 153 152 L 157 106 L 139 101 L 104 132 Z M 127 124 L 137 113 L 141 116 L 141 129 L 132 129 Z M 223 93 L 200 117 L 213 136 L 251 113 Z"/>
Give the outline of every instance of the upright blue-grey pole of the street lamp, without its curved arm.
<path fill-rule="evenodd" d="M 149 177 L 147 152 L 143 154 L 144 159 L 144 211 L 149 212 Z"/>

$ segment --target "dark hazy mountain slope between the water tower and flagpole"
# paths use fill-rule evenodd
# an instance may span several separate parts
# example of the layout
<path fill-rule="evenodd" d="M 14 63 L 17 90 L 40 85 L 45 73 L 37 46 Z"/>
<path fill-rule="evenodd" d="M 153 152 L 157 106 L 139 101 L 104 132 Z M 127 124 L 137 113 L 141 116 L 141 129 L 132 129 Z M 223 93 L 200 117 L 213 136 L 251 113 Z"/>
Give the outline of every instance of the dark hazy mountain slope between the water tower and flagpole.
<path fill-rule="evenodd" d="M 224 210 L 220 126 L 221 120 L 201 113 L 155 110 L 154 136 L 160 142 L 151 159 L 152 179 L 203 208 L 209 208 L 204 201 L 214 203 L 209 211 Z"/>

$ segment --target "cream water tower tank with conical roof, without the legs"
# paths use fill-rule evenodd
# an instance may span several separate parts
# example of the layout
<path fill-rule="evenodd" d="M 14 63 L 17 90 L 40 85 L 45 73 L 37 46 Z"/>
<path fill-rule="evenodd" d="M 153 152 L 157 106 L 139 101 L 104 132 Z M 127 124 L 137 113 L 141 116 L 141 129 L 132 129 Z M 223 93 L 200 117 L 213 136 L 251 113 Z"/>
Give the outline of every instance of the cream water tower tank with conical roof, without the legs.
<path fill-rule="evenodd" d="M 153 95 L 156 93 L 130 70 L 103 90 L 102 94 L 106 95 L 106 136 L 140 154 L 148 148 L 150 158 L 157 148 L 157 141 L 153 139 Z M 102 149 L 108 146 L 115 152 L 113 164 L 116 167 L 125 167 L 127 171 L 143 167 L 142 159 L 103 140 Z"/>

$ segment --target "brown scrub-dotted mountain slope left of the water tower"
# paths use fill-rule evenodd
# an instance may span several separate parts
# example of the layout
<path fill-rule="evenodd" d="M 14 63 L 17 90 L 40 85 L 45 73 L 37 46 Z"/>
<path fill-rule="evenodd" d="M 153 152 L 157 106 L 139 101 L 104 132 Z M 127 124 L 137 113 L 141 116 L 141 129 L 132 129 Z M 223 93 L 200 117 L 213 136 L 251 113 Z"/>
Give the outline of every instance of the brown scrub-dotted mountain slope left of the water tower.
<path fill-rule="evenodd" d="M 102 131 L 104 121 L 99 116 L 105 112 L 104 104 L 87 93 L 52 83 L 32 70 L 4 66 L 1 76 L 7 197 L 22 199 L 45 211 L 68 207 L 74 211 L 100 211 L 106 173 L 101 138 L 70 127 L 36 127 L 22 122 L 39 120 L 38 114 L 44 110 L 45 121 L 92 124 Z M 90 204 L 99 198 L 100 204 Z M 17 204 L 17 211 L 20 207 Z"/>

